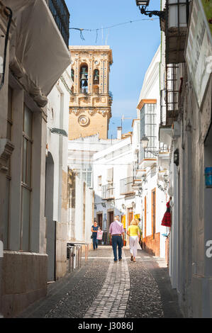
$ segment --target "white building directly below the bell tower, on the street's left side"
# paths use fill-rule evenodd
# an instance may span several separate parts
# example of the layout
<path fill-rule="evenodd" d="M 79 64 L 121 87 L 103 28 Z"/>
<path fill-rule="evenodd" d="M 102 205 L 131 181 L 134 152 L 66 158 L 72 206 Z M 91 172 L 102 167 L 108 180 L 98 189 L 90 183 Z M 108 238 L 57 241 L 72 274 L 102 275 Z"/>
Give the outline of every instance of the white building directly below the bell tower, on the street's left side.
<path fill-rule="evenodd" d="M 94 155 L 120 140 L 99 139 L 99 134 L 68 142 L 69 241 L 91 244 L 94 222 Z"/>

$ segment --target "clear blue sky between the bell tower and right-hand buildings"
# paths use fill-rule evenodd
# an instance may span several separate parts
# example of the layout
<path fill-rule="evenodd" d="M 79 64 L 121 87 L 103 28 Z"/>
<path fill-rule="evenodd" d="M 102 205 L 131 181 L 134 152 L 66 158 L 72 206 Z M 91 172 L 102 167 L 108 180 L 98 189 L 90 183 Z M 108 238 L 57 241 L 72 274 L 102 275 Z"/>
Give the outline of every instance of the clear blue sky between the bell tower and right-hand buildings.
<path fill-rule="evenodd" d="M 97 29 L 135 20 L 134 23 L 98 31 L 70 30 L 69 45 L 110 45 L 113 65 L 110 90 L 113 94 L 112 118 L 108 138 L 116 137 L 121 115 L 136 118 L 136 106 L 147 67 L 160 45 L 160 21 L 150 21 L 141 15 L 135 0 L 66 0 L 70 12 L 70 27 Z M 150 0 L 150 10 L 160 10 L 160 0 Z M 123 132 L 131 130 L 132 120 L 123 120 Z"/>

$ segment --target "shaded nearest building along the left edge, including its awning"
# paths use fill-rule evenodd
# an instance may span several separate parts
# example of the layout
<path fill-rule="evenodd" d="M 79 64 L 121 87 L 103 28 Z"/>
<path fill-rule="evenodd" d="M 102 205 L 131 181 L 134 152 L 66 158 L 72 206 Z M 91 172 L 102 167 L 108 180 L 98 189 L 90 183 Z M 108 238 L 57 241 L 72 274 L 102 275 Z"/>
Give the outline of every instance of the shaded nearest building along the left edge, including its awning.
<path fill-rule="evenodd" d="M 0 75 L 0 312 L 5 317 L 15 316 L 47 293 L 46 105 L 70 64 L 65 1 L 55 9 L 55 19 L 48 4 L 0 2 L 0 57 L 6 60 Z M 62 24 L 61 32 L 55 20 Z"/>

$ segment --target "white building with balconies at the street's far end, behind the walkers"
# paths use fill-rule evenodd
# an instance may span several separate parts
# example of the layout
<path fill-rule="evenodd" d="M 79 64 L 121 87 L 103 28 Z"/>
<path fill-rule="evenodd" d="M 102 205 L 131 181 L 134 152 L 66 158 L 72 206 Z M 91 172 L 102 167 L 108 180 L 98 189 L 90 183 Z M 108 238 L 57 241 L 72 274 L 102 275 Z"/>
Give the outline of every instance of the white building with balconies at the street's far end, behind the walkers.
<path fill-rule="evenodd" d="M 114 217 L 120 216 L 126 232 L 135 213 L 131 135 L 101 152 L 96 152 L 93 167 L 95 218 L 104 230 L 105 243 L 108 242 L 108 229 Z"/>

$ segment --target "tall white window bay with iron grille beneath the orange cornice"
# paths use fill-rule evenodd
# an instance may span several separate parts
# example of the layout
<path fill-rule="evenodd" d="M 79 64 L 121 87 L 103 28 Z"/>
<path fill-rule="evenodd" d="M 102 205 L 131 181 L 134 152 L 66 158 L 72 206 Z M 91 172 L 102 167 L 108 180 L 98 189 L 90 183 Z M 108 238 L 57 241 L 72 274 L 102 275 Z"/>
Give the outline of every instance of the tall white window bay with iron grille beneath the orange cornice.
<path fill-rule="evenodd" d="M 147 135 L 149 139 L 147 149 L 157 150 L 156 104 L 146 103 L 140 110 L 140 137 L 143 135 Z M 145 152 L 141 147 L 140 161 L 146 158 L 155 158 L 155 156 L 151 152 Z"/>

